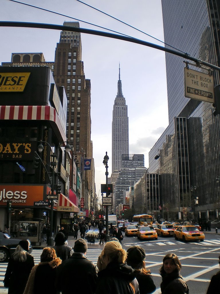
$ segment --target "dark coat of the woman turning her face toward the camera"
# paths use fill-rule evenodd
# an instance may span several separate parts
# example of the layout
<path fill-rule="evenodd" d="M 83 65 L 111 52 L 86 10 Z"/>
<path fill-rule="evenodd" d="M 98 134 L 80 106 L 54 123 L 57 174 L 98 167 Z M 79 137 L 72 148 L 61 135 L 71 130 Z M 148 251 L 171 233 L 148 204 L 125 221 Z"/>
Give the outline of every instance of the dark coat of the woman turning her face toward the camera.
<path fill-rule="evenodd" d="M 170 274 L 161 273 L 161 294 L 189 294 L 189 287 L 178 271 Z"/>

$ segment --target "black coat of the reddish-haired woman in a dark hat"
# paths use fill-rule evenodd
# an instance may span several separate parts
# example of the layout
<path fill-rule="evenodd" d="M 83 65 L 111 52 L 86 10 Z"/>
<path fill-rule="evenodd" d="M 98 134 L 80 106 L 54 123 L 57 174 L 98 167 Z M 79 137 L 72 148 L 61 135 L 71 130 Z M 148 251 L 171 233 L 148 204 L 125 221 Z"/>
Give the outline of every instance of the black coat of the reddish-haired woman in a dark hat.
<path fill-rule="evenodd" d="M 152 276 L 150 273 L 144 274 L 139 271 L 136 271 L 136 279 L 139 284 L 140 294 L 150 294 L 156 290 L 156 286 L 154 285 Z"/>

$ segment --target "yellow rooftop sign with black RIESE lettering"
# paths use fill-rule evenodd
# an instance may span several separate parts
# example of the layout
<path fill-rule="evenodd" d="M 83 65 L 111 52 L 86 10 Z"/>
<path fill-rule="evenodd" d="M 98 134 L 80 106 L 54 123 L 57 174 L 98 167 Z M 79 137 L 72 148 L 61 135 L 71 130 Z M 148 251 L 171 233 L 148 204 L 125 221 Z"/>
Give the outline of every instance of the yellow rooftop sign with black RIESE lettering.
<path fill-rule="evenodd" d="M 31 73 L 0 73 L 0 92 L 23 92 Z"/>

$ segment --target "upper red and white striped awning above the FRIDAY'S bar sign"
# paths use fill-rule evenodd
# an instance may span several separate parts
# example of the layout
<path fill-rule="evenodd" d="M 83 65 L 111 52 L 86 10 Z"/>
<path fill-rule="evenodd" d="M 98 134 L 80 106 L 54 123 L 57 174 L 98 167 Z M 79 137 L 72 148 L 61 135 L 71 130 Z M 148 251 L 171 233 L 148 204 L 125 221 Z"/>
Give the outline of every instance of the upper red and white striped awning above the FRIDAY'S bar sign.
<path fill-rule="evenodd" d="M 66 126 L 64 126 L 55 108 L 52 106 L 0 106 L 0 120 L 1 119 L 50 121 L 53 127 L 59 130 L 63 141 L 66 141 Z"/>

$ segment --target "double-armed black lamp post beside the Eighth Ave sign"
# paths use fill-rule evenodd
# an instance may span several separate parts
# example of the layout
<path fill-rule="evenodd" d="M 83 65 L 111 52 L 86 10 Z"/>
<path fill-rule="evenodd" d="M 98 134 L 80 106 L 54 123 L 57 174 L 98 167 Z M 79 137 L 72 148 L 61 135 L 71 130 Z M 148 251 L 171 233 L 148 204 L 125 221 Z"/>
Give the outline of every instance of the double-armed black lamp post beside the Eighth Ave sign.
<path fill-rule="evenodd" d="M 44 149 L 42 143 L 46 143 L 46 144 L 48 144 L 48 146 L 50 146 L 50 144 L 48 142 L 40 140 L 40 144 L 38 145 L 38 152 L 40 152 L 40 153 Z M 60 147 L 60 145 L 63 144 L 63 143 L 67 143 L 66 146 L 65 146 L 65 150 L 66 150 L 66 152 L 70 152 L 71 146 L 69 145 L 68 141 L 60 143 L 57 146 L 57 151 L 58 151 L 58 148 Z M 51 146 L 50 146 L 50 150 L 52 151 Z M 50 166 L 52 167 L 52 181 L 50 181 L 50 188 L 51 188 L 51 194 L 52 195 L 54 194 L 55 185 L 56 185 L 54 183 L 54 174 L 55 174 L 55 167 L 57 166 L 57 151 L 56 151 L 56 153 L 53 152 L 51 154 L 51 162 L 50 162 Z M 44 163 L 43 163 L 43 165 L 44 165 Z M 45 165 L 44 165 L 44 167 L 45 167 Z M 45 169 L 46 169 L 46 167 L 45 167 Z M 49 178 L 49 180 L 50 180 L 50 178 Z M 54 201 L 52 199 L 52 200 L 50 200 L 50 238 L 47 241 L 48 246 L 53 246 L 54 245 L 54 240 L 53 240 L 53 206 L 54 206 Z"/>

